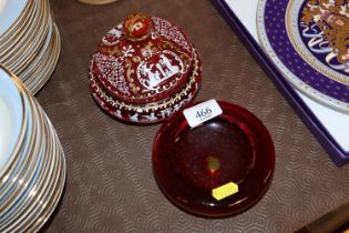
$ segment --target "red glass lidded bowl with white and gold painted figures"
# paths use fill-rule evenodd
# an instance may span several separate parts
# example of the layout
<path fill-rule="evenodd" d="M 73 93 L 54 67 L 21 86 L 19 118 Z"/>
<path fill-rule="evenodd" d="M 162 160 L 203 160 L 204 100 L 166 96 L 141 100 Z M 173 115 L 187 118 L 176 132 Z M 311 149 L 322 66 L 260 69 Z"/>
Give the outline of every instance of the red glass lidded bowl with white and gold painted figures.
<path fill-rule="evenodd" d="M 192 101 L 199 58 L 183 30 L 156 17 L 131 14 L 102 39 L 90 67 L 90 90 L 121 120 L 154 123 Z"/>

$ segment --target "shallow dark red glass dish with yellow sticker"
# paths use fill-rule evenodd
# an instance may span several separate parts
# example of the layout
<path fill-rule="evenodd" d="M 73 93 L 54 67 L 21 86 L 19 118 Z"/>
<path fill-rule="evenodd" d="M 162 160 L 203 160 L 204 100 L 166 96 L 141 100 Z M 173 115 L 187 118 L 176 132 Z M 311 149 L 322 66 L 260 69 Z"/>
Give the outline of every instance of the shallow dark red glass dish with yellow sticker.
<path fill-rule="evenodd" d="M 254 205 L 268 190 L 275 149 L 265 125 L 249 111 L 218 101 L 223 113 L 191 129 L 178 112 L 160 129 L 153 172 L 164 194 L 201 216 L 228 216 Z M 217 201 L 212 190 L 228 182 L 239 191 Z"/>

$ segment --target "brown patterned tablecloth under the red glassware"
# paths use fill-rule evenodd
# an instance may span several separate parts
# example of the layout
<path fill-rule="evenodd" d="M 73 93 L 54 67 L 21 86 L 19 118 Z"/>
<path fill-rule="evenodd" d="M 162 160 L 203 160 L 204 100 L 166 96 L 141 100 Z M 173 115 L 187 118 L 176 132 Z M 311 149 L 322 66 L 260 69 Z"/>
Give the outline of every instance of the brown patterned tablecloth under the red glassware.
<path fill-rule="evenodd" d="M 43 232 L 292 232 L 349 201 L 349 166 L 336 168 L 208 0 L 51 4 L 62 50 L 37 98 L 63 144 L 68 179 Z M 196 100 L 238 103 L 269 130 L 275 175 L 266 195 L 248 211 L 212 220 L 174 206 L 152 173 L 160 124 L 123 124 L 104 114 L 90 95 L 91 54 L 106 31 L 132 12 L 168 19 L 188 33 L 203 60 Z"/>

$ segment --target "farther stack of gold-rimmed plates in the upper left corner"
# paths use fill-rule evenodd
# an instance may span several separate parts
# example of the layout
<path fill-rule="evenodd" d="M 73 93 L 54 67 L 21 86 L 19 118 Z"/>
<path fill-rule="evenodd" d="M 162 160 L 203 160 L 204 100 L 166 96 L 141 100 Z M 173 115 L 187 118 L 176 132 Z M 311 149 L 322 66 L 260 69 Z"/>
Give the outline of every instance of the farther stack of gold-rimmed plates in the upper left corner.
<path fill-rule="evenodd" d="M 0 63 L 33 93 L 51 77 L 60 49 L 49 0 L 0 0 Z"/>

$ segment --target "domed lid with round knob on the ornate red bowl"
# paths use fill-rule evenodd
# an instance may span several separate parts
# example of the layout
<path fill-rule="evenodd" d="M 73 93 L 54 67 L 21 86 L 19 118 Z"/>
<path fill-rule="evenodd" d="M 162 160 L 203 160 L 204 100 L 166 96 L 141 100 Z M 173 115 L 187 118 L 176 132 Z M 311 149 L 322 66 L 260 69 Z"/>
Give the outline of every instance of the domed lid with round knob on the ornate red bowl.
<path fill-rule="evenodd" d="M 193 57 L 193 45 L 181 28 L 135 13 L 102 39 L 91 72 L 114 98 L 146 104 L 181 90 Z"/>

